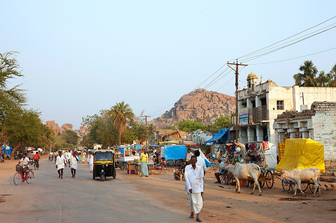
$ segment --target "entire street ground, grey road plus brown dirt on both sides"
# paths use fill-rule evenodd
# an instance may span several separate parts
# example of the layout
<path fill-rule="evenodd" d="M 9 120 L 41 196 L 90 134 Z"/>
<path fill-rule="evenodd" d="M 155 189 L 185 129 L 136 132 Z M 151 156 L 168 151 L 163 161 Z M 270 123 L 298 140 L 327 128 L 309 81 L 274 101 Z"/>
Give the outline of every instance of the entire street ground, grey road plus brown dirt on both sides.
<path fill-rule="evenodd" d="M 18 161 L 0 164 L 0 196 L 3 206 L 0 215 L 3 219 L 12 222 L 10 210 L 19 211 L 31 207 L 19 205 L 23 190 L 39 191 L 40 204 L 34 205 L 39 212 L 28 211 L 28 219 L 42 222 L 111 222 L 111 221 L 138 221 L 138 222 L 196 222 L 189 219 L 187 195 L 184 191 L 185 181 L 177 181 L 168 175 L 151 175 L 139 177 L 128 175 L 126 171 L 117 171 L 116 179 L 107 179 L 104 182 L 93 180 L 86 164 L 78 164 L 79 171 L 76 179 L 71 179 L 66 169 L 65 179 L 60 181 L 54 163 L 43 157 L 41 168 L 34 171 L 35 178 L 32 184 L 26 182 L 16 186 L 12 176 Z M 66 167 L 68 168 L 68 167 Z M 153 173 L 156 171 L 153 171 Z M 241 188 L 240 194 L 235 194 L 235 187 L 213 183 L 213 175 L 205 177 L 205 200 L 200 217 L 203 222 L 335 222 L 336 191 L 322 190 L 320 198 L 313 198 L 312 193 L 306 191 L 307 197 L 297 196 L 300 200 L 287 201 L 292 194 L 284 193 L 280 179 L 274 187 L 262 188 L 262 195 L 255 191 L 250 195 L 251 188 Z M 60 190 L 60 191 L 59 191 Z M 41 191 L 43 191 L 41 193 Z M 71 193 L 70 193 L 71 192 Z M 62 199 L 59 200 L 59 193 Z M 27 195 L 27 199 L 34 199 Z M 51 196 L 53 197 L 52 199 Z M 106 200 L 106 198 L 109 198 Z M 282 201 L 285 199 L 285 201 Z M 302 204 L 305 201 L 309 204 Z M 6 202 L 6 203 L 4 203 Z M 95 202 L 92 205 L 92 202 Z M 31 204 L 31 203 L 30 203 Z M 60 204 L 60 206 L 59 206 Z M 144 204 L 139 207 L 140 204 Z M 141 205 L 140 205 L 141 206 Z M 60 213 L 59 213 L 60 209 Z M 111 216 L 96 215 L 96 211 L 117 210 Z M 75 214 L 72 214 L 72 213 Z M 145 216 L 141 215 L 145 213 Z M 39 217 L 41 214 L 41 217 Z M 30 216 L 31 215 L 31 216 Z M 215 217 L 209 217 L 215 215 Z M 34 217 L 33 217 L 34 216 Z M 77 217 L 76 217 L 77 216 Z M 134 216 L 139 216 L 134 220 Z M 11 220 L 12 219 L 12 220 Z"/>

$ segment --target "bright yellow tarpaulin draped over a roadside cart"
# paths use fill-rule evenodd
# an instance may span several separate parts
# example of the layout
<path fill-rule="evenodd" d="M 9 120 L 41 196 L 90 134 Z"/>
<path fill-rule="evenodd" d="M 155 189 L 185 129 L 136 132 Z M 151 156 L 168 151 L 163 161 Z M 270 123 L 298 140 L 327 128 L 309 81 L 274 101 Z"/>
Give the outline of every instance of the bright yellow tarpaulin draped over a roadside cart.
<path fill-rule="evenodd" d="M 324 165 L 323 144 L 312 139 L 286 139 L 285 153 L 277 170 L 306 169 L 316 167 L 321 173 L 326 171 Z"/>

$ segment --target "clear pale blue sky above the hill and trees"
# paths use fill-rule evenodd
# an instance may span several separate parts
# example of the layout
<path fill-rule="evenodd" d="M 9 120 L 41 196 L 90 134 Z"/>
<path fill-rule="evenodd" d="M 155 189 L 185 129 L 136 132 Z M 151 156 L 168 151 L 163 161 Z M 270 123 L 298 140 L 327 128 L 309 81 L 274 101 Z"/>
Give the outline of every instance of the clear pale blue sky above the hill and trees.
<path fill-rule="evenodd" d="M 82 117 L 123 100 L 136 115 L 145 110 L 152 120 L 224 65 L 200 85 L 206 87 L 227 61 L 330 19 L 335 9 L 336 1 L 2 0 L 0 52 L 19 52 L 16 59 L 24 78 L 10 85 L 24 83 L 29 107 L 39 109 L 44 122 L 71 123 L 79 129 Z M 252 64 L 335 48 L 335 36 L 333 28 L 246 62 L 239 87 L 246 85 L 250 72 L 279 86 L 293 86 L 292 76 L 305 60 L 329 72 L 336 49 Z M 233 76 L 232 71 L 205 89 L 234 95 Z"/>

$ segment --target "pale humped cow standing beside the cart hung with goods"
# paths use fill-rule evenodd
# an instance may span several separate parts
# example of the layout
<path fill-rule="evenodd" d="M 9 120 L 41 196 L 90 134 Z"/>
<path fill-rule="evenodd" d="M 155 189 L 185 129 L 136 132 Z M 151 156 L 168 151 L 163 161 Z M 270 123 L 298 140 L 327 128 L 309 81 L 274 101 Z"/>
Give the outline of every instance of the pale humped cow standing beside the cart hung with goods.
<path fill-rule="evenodd" d="M 259 196 L 261 195 L 260 185 L 258 182 L 258 177 L 261 171 L 260 171 L 260 167 L 257 164 L 254 164 L 254 163 L 243 163 L 242 164 L 242 163 L 236 162 L 235 165 L 231 165 L 231 164 L 228 165 L 226 169 L 228 169 L 228 171 L 231 172 L 237 180 L 237 183 L 236 183 L 236 193 L 237 194 L 240 193 L 239 181 L 240 180 L 250 180 L 251 178 L 253 178 L 254 187 L 253 187 L 253 191 L 251 194 L 253 194 L 255 187 L 258 186 Z M 237 186 L 238 186 L 238 189 L 237 189 Z"/>

